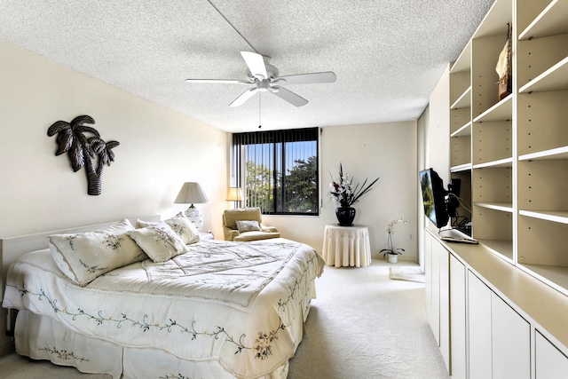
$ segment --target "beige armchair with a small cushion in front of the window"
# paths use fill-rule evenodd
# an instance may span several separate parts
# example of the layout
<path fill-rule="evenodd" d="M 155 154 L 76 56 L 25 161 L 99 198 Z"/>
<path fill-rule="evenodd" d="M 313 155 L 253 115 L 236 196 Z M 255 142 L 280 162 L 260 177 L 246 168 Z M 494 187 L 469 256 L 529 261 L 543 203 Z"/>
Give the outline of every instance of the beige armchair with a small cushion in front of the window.
<path fill-rule="evenodd" d="M 264 226 L 262 221 L 260 208 L 226 209 L 223 213 L 225 241 L 256 241 L 280 237 L 278 229 Z"/>

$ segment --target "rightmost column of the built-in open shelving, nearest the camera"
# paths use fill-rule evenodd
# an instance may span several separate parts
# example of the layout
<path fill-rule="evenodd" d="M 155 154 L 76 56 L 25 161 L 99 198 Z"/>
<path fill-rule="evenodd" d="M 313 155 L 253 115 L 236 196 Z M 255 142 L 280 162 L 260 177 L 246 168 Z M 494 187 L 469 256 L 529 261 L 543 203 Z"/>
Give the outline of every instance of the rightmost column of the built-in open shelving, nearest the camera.
<path fill-rule="evenodd" d="M 568 0 L 517 12 L 515 263 L 568 295 Z"/>

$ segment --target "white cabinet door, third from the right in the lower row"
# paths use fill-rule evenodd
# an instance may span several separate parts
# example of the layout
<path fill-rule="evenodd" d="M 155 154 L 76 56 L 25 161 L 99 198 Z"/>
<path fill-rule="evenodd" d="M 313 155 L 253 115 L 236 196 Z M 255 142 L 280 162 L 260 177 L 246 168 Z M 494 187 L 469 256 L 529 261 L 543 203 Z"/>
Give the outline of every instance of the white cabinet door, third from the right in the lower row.
<path fill-rule="evenodd" d="M 491 379 L 491 289 L 468 272 L 469 379 Z"/>

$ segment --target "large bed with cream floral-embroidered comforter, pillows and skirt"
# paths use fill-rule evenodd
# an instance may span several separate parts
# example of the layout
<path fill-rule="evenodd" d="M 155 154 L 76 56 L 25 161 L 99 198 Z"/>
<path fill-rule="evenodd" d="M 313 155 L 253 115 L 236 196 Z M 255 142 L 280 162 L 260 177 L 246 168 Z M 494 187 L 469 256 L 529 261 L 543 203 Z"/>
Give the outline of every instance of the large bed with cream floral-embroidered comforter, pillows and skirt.
<path fill-rule="evenodd" d="M 286 378 L 322 257 L 282 238 L 201 241 L 196 230 L 184 238 L 172 220 L 3 240 L 3 307 L 18 310 L 16 351 L 114 378 Z M 155 248 L 151 230 L 162 226 L 183 246 Z M 93 235 L 106 236 L 104 251 Z"/>

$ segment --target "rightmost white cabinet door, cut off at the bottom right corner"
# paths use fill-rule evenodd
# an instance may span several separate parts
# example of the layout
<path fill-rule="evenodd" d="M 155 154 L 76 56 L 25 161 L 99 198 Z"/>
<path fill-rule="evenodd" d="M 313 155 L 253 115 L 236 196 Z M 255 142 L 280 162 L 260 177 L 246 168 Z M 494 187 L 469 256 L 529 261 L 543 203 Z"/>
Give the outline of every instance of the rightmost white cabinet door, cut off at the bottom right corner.
<path fill-rule="evenodd" d="M 535 343 L 536 379 L 565 379 L 568 375 L 568 358 L 538 330 Z"/>

